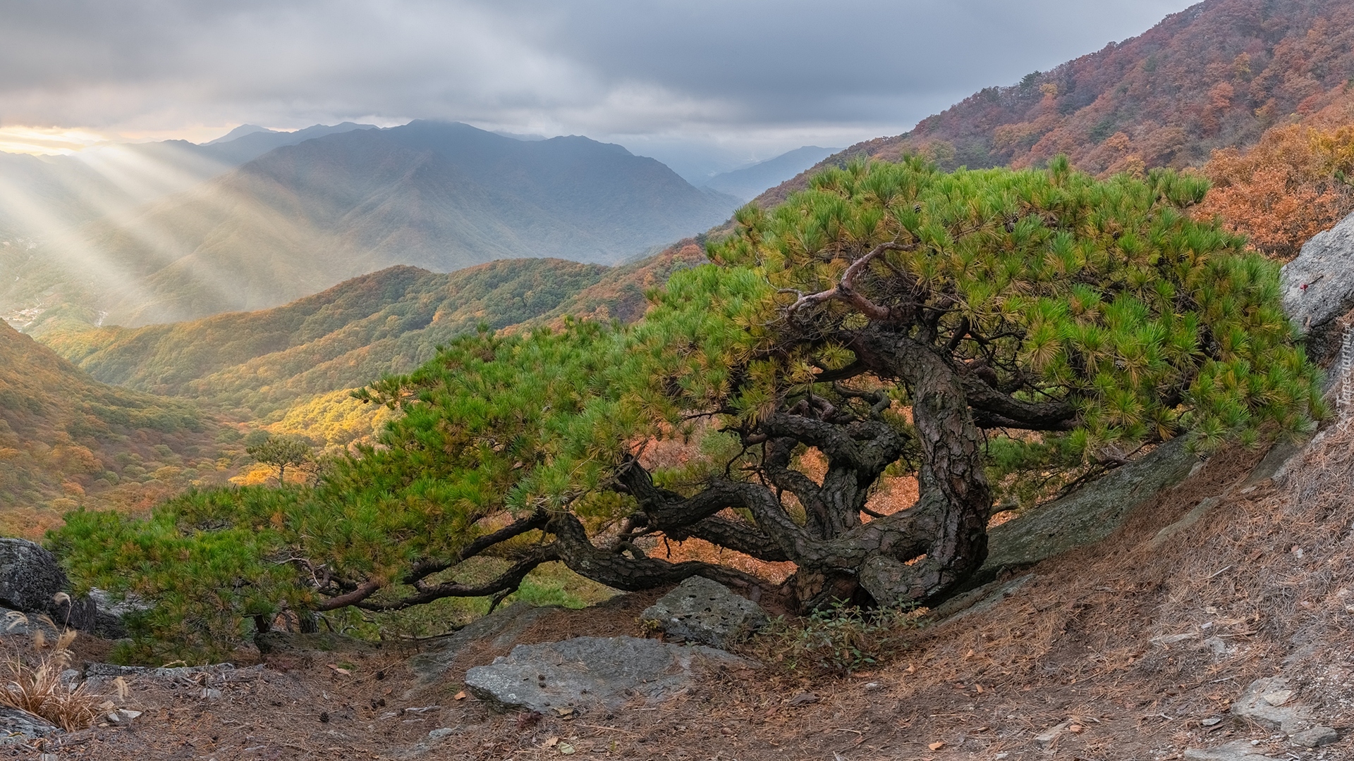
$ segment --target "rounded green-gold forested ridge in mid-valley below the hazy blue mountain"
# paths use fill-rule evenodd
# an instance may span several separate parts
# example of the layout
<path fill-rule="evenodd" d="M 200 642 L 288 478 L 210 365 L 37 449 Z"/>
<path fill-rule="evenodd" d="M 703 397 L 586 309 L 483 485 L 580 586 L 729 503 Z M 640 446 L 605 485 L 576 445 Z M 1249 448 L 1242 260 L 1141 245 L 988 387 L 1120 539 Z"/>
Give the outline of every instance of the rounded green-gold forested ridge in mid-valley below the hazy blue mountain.
<path fill-rule="evenodd" d="M 42 339 L 95 378 L 263 414 L 427 362 L 437 344 L 550 313 L 607 272 L 558 259 L 452 274 L 391 267 L 264 311 Z"/>

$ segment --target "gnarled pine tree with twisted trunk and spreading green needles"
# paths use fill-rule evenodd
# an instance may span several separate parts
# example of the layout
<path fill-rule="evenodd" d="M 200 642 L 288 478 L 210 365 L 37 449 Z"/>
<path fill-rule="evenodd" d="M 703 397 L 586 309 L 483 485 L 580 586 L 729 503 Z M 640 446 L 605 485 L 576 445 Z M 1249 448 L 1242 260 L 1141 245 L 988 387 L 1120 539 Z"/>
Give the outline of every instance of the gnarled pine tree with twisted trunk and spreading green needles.
<path fill-rule="evenodd" d="M 934 600 L 983 563 L 994 493 L 1022 474 L 1083 473 L 1186 432 L 1255 441 L 1320 414 L 1275 267 L 1185 213 L 1205 191 L 1171 172 L 1097 181 L 1062 160 L 833 169 L 739 211 L 712 264 L 676 274 L 635 326 L 481 333 L 375 383 L 363 398 L 403 412 L 383 445 L 283 506 L 196 494 L 149 523 L 72 516 L 57 543 L 77 577 L 116 585 L 107 569 L 139 566 L 123 589 L 188 600 L 146 536 L 253 527 L 249 552 L 294 575 L 237 584 L 250 612 L 263 586 L 311 609 L 502 599 L 552 561 L 628 590 L 705 575 L 783 609 Z M 665 437 L 691 439 L 688 462 L 646 469 Z M 871 509 L 886 473 L 915 475 L 915 505 Z M 798 571 L 773 585 L 669 562 L 645 548 L 657 535 Z M 462 581 L 485 555 L 502 573 Z"/>

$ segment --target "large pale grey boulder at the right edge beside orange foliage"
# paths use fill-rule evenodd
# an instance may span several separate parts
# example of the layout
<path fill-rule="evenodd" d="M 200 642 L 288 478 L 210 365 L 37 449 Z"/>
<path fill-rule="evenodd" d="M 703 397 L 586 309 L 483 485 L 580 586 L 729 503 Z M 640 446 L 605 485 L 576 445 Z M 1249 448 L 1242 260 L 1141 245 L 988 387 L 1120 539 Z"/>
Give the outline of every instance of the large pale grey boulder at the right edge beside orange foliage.
<path fill-rule="evenodd" d="M 1342 329 L 1336 322 L 1354 309 L 1354 214 L 1303 244 L 1280 279 L 1284 311 L 1317 362 L 1334 356 Z"/>

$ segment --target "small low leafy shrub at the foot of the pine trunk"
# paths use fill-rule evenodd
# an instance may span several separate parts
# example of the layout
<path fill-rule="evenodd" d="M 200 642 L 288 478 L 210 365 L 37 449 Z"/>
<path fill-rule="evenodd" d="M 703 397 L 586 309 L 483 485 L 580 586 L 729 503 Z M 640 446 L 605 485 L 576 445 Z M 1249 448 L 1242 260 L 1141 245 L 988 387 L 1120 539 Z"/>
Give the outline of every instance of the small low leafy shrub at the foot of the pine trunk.
<path fill-rule="evenodd" d="M 841 677 L 880 665 L 904 647 L 907 632 L 915 628 L 914 609 L 865 611 L 837 601 L 803 619 L 772 620 L 751 647 L 764 661 L 780 662 L 791 672 Z"/>

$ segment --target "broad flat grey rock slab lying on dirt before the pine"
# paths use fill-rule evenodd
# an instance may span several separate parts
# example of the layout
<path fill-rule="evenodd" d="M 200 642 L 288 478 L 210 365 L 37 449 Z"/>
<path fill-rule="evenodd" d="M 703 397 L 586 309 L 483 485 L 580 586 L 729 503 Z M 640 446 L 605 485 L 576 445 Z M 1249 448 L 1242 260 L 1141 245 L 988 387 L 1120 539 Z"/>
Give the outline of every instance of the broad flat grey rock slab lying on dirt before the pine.
<path fill-rule="evenodd" d="M 672 645 L 635 636 L 578 636 L 519 645 L 487 666 L 466 672 L 466 687 L 497 710 L 571 715 L 619 708 L 634 700 L 661 703 L 688 685 L 701 668 L 758 665 L 701 645 Z"/>

